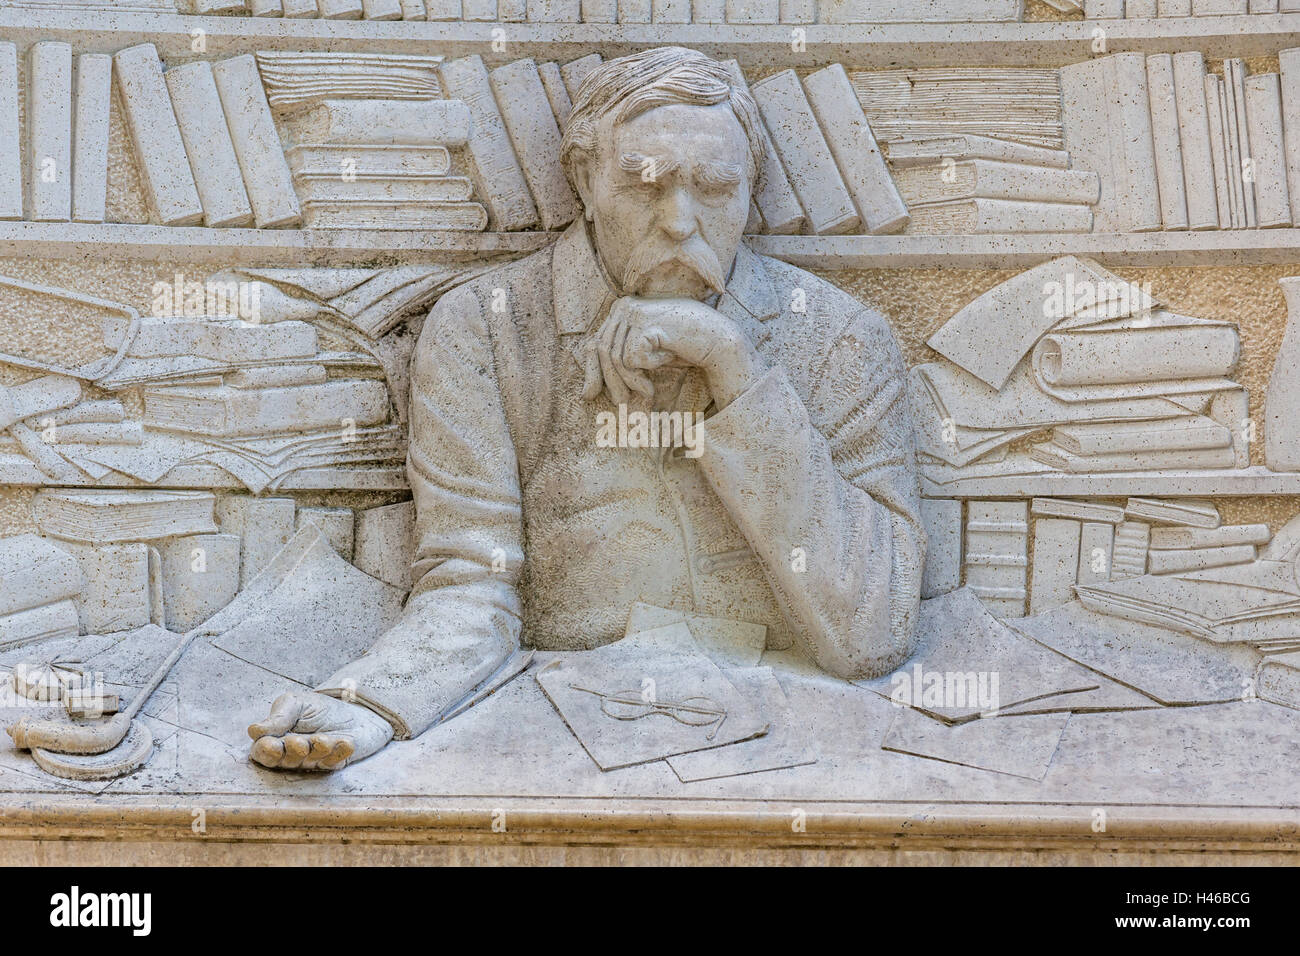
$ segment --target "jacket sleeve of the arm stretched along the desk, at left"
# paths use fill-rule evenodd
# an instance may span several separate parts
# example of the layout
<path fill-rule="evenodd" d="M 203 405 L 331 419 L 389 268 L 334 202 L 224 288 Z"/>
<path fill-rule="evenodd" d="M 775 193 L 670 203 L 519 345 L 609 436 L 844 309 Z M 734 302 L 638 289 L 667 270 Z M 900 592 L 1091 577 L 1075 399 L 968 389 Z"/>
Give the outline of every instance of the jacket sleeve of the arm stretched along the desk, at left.
<path fill-rule="evenodd" d="M 468 286 L 434 306 L 411 372 L 407 475 L 415 585 L 398 623 L 322 693 L 421 734 L 519 646 L 523 509 L 486 310 Z"/>

